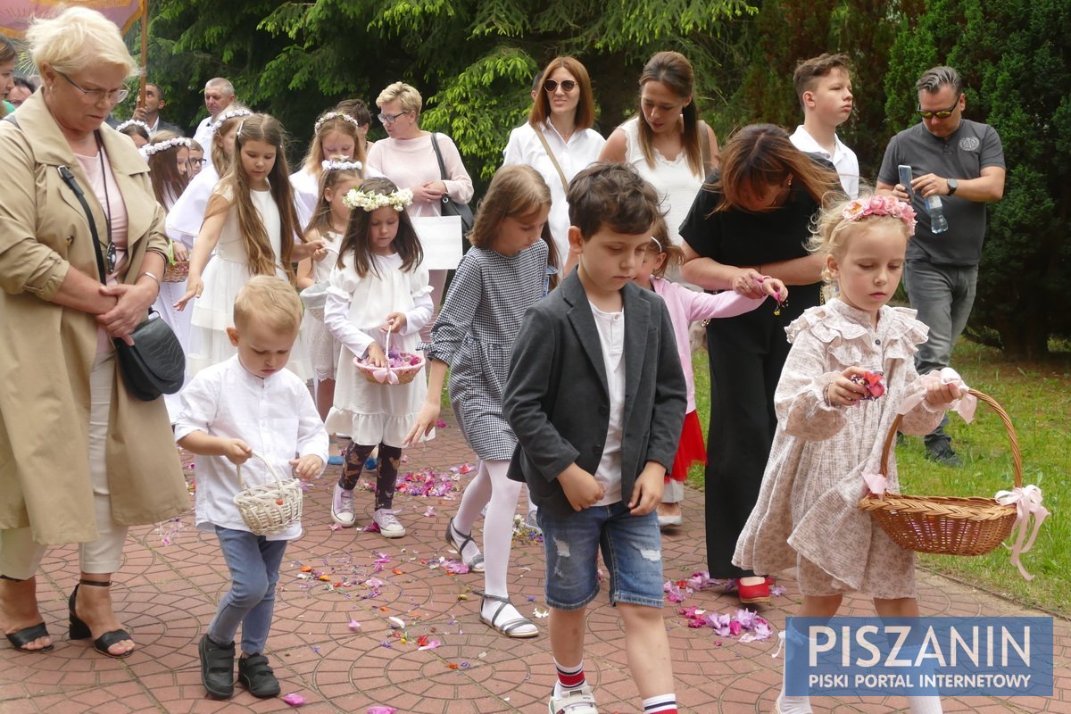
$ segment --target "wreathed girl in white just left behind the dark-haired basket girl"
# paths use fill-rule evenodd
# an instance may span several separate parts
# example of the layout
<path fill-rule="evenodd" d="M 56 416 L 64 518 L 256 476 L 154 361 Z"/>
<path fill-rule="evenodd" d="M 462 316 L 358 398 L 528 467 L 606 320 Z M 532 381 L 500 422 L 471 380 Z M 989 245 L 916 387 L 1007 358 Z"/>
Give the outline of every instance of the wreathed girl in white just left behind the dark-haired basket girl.
<path fill-rule="evenodd" d="M 298 289 L 304 290 L 317 283 L 327 283 L 331 277 L 331 270 L 338 262 L 342 236 L 349 224 L 350 209 L 343 199 L 350 188 L 360 183 L 361 164 L 323 162 L 319 202 L 312 223 L 305 230 L 305 240 L 323 241 L 323 250 L 298 263 Z M 316 380 L 316 409 L 320 412 L 320 419 L 326 422 L 331 405 L 334 404 L 335 374 L 338 371 L 338 351 L 342 345 L 323 324 L 323 319 L 313 313 L 305 316 L 305 335 L 313 378 Z"/>

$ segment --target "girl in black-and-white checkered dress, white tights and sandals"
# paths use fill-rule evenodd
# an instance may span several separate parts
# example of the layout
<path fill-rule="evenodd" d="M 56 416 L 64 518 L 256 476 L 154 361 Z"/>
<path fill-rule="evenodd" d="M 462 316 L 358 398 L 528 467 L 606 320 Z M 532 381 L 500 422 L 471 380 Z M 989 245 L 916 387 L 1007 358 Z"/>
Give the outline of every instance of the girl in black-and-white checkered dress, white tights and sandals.
<path fill-rule="evenodd" d="M 446 538 L 466 565 L 484 573 L 480 619 L 508 637 L 539 634 L 510 603 L 506 586 L 521 484 L 506 475 L 516 437 L 502 417 L 502 389 L 525 312 L 556 284 L 549 211 L 550 189 L 533 168 L 507 166 L 495 174 L 469 233 L 472 249 L 457 267 L 425 346 L 427 398 L 407 437 L 412 443 L 435 426 L 449 367 L 454 415 L 480 467 Z M 471 531 L 484 505 L 481 553 Z"/>

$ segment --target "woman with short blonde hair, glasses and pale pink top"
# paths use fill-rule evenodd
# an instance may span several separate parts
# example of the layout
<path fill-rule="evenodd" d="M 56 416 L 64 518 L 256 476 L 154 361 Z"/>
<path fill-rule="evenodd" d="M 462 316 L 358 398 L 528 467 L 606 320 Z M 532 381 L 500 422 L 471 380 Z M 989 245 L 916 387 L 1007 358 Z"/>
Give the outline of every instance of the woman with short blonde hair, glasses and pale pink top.
<path fill-rule="evenodd" d="M 432 133 L 420 127 L 420 109 L 423 101 L 414 87 L 396 81 L 376 98 L 379 121 L 388 137 L 376 141 L 368 149 L 368 176 L 381 174 L 401 188 L 412 191 L 410 216 L 437 216 L 442 211 L 442 197 L 450 196 L 457 203 L 472 199 L 472 179 L 469 178 L 457 147 L 446 134 L 435 134 L 447 176 L 439 173 L 439 162 L 432 147 Z M 438 307 L 447 271 L 431 271 L 432 301 Z"/>

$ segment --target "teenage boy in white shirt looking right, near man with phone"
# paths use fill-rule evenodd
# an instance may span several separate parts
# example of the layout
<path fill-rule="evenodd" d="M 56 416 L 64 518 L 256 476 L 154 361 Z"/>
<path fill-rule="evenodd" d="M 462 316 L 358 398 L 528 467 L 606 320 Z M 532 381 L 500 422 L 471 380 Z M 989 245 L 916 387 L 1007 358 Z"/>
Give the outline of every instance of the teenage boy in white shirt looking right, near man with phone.
<path fill-rule="evenodd" d="M 859 197 L 859 159 L 844 146 L 836 127 L 851 116 L 851 76 L 846 55 L 825 54 L 803 60 L 793 75 L 803 107 L 803 123 L 791 135 L 800 151 L 830 162 L 850 198 Z"/>

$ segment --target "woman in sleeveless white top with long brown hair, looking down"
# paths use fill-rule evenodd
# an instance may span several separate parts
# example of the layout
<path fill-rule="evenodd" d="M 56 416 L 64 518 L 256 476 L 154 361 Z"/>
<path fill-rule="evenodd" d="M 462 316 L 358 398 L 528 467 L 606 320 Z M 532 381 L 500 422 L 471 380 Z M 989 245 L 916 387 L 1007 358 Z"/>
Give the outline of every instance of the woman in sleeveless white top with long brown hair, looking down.
<path fill-rule="evenodd" d="M 680 52 L 659 52 L 639 75 L 639 112 L 610 135 L 599 161 L 629 163 L 658 188 L 669 240 L 707 173 L 718 166 L 718 137 L 692 101 L 695 73 Z"/>

